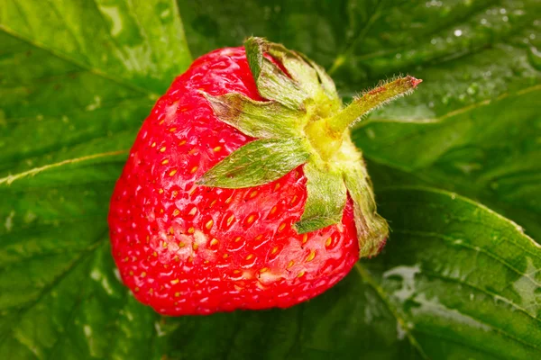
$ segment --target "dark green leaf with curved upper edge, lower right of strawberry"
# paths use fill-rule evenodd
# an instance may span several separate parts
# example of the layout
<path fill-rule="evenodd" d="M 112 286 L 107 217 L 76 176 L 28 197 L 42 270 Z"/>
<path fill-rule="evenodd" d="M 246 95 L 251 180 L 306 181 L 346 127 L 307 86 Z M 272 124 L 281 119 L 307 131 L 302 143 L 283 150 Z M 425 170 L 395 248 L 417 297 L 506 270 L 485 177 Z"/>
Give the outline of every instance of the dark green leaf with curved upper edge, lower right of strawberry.
<path fill-rule="evenodd" d="M 389 189 L 379 201 L 393 227 L 388 246 L 332 290 L 285 311 L 172 319 L 166 353 L 193 359 L 538 356 L 541 250 L 531 238 L 454 193 Z"/>

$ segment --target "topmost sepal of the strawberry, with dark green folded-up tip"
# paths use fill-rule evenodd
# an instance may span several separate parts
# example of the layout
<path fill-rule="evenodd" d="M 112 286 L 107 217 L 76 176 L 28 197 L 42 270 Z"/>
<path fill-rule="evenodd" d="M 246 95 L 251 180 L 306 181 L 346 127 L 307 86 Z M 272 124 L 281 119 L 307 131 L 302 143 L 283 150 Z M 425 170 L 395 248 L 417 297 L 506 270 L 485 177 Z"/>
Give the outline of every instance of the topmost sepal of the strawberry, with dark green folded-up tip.
<path fill-rule="evenodd" d="M 265 43 L 266 41 L 261 38 L 249 38 L 244 41 L 246 58 L 259 93 L 265 99 L 277 101 L 289 109 L 304 109 L 308 94 L 280 67 L 263 56 Z"/>

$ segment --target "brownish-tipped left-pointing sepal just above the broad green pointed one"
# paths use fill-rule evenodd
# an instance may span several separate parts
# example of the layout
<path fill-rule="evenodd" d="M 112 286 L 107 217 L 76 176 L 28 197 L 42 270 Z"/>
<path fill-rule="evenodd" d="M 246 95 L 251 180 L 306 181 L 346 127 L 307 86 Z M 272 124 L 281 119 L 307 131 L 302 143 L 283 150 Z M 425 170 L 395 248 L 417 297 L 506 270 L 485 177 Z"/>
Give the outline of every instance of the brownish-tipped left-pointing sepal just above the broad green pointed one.
<path fill-rule="evenodd" d="M 298 137 L 302 113 L 274 101 L 258 102 L 239 94 L 213 96 L 203 93 L 221 121 L 258 139 Z"/>

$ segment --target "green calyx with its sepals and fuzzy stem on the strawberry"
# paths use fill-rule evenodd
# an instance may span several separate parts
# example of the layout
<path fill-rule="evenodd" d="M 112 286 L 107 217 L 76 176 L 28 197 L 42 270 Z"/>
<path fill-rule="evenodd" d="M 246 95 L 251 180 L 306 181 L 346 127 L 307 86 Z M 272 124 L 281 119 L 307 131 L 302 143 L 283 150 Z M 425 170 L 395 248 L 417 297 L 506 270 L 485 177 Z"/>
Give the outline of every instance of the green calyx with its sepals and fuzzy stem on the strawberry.
<path fill-rule="evenodd" d="M 420 80 L 400 77 L 344 108 L 333 80 L 309 58 L 261 38 L 247 39 L 244 47 L 258 91 L 268 101 L 236 93 L 204 95 L 221 121 L 256 140 L 225 157 L 198 184 L 252 187 L 268 184 L 303 165 L 307 202 L 295 224 L 298 233 L 342 221 L 349 193 L 360 255 L 376 255 L 389 230 L 376 212 L 370 178 L 350 139 L 349 127 L 381 104 L 408 94 Z"/>

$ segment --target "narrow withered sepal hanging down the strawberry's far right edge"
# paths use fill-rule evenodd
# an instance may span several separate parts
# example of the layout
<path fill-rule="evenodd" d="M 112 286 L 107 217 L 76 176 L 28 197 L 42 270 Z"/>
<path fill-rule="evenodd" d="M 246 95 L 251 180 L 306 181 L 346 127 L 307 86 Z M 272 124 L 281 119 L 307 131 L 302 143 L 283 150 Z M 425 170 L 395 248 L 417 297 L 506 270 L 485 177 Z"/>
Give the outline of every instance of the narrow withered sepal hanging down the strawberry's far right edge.
<path fill-rule="evenodd" d="M 344 147 L 352 147 L 351 142 Z M 378 255 L 389 236 L 389 225 L 376 211 L 376 201 L 370 177 L 362 158 L 348 162 L 344 167 L 344 181 L 353 200 L 353 215 L 357 238 L 359 238 L 359 256 L 373 257 Z"/>

